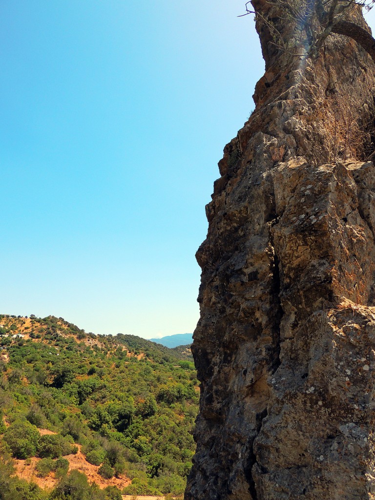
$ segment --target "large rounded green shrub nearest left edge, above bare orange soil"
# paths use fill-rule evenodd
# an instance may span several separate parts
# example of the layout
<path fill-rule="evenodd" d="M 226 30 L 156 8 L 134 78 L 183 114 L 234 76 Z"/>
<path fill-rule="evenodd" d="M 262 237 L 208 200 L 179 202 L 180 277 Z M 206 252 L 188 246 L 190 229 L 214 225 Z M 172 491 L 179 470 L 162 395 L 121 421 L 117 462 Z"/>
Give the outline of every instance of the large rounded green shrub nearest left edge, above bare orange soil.
<path fill-rule="evenodd" d="M 40 434 L 35 425 L 28 421 L 16 420 L 4 432 L 4 441 L 15 458 L 34 456 Z"/>

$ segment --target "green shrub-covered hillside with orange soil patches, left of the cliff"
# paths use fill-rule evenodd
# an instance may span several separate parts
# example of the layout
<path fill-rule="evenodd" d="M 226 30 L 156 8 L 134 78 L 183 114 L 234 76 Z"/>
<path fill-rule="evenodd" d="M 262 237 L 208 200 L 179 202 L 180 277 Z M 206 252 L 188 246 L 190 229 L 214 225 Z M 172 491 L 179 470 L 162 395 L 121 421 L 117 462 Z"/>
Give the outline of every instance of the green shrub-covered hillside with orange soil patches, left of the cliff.
<path fill-rule="evenodd" d="M 0 315 L 0 347 L 0 500 L 182 494 L 199 395 L 188 347 L 32 315 Z"/>

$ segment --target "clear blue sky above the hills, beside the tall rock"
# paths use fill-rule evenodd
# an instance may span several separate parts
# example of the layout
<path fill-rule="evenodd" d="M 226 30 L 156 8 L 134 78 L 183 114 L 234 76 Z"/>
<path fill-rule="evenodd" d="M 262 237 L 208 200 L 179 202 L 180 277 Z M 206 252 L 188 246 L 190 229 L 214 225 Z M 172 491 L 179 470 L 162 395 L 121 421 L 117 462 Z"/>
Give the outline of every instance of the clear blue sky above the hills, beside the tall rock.
<path fill-rule="evenodd" d="M 243 0 L 3 0 L 2 313 L 191 332 L 204 205 L 263 61 Z"/>

